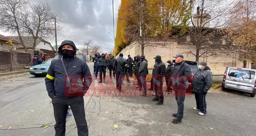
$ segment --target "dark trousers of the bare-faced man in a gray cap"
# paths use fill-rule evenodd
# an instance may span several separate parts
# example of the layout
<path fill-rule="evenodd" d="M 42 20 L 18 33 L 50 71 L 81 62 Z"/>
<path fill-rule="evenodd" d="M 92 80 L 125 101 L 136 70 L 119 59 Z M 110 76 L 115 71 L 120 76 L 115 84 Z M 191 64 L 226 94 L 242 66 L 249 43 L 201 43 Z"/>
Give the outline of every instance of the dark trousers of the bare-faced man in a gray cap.
<path fill-rule="evenodd" d="M 186 89 L 174 88 L 174 91 L 175 91 L 175 99 L 176 99 L 177 105 L 178 105 L 178 111 L 177 111 L 176 118 L 182 120 L 183 112 L 184 112 L 184 101 L 185 101 Z"/>

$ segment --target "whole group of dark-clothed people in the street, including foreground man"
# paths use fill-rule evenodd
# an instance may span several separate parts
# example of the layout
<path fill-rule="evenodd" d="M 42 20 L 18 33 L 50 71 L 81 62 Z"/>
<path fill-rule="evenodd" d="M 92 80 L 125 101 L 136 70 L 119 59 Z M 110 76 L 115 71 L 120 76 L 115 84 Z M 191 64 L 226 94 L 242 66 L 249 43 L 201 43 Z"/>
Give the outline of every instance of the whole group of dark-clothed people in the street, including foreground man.
<path fill-rule="evenodd" d="M 189 86 L 189 79 L 192 77 L 191 68 L 184 61 L 182 54 L 174 56 L 175 60 L 168 60 L 166 64 L 160 55 L 154 57 L 155 64 L 152 71 L 151 87 L 148 90 L 155 91 L 153 101 L 157 105 L 163 105 L 163 81 L 167 84 L 167 91 L 175 93 L 177 101 L 177 113 L 173 113 L 172 123 L 182 122 L 184 111 L 184 100 L 186 89 Z M 106 54 L 95 54 L 93 58 L 95 79 L 99 72 L 99 82 L 105 83 L 106 69 L 110 70 L 110 77 L 116 79 L 116 89 L 122 92 L 124 76 L 128 80 L 132 73 L 137 78 L 137 87 L 143 91 L 142 96 L 147 96 L 146 75 L 148 74 L 148 61 L 145 55 L 137 55 L 134 59 L 128 55 L 124 58 L 122 53 L 114 59 L 112 54 L 106 58 Z M 212 73 L 207 62 L 200 62 L 199 71 L 192 80 L 192 91 L 195 92 L 196 107 L 201 116 L 207 115 L 205 96 L 212 86 Z M 132 72 L 133 71 L 133 72 Z M 103 78 L 102 78 L 103 74 Z M 71 77 L 72 76 L 72 77 Z M 82 82 L 79 82 L 82 79 Z M 67 83 L 67 86 L 66 86 Z M 85 119 L 83 96 L 92 83 L 90 68 L 87 63 L 76 57 L 76 45 L 73 41 L 64 40 L 58 48 L 58 56 L 52 60 L 45 84 L 49 97 L 52 99 L 55 117 L 55 136 L 65 135 L 66 113 L 71 108 L 77 125 L 78 136 L 88 136 L 87 121 Z M 128 80 L 128 84 L 131 84 Z M 67 87 L 67 88 L 66 88 Z"/>

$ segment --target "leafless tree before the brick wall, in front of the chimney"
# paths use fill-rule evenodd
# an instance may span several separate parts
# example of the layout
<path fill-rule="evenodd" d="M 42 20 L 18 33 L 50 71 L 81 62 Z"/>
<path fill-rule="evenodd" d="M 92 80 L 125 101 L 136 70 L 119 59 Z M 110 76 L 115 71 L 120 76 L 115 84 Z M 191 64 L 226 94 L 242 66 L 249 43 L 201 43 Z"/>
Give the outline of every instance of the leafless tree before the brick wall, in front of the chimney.
<path fill-rule="evenodd" d="M 191 45 L 191 51 L 186 52 L 200 57 L 228 54 L 224 28 L 232 16 L 233 0 L 194 0 L 196 14 L 191 15 L 192 27 L 189 27 L 186 45 Z M 192 12 L 193 13 L 193 12 Z"/>

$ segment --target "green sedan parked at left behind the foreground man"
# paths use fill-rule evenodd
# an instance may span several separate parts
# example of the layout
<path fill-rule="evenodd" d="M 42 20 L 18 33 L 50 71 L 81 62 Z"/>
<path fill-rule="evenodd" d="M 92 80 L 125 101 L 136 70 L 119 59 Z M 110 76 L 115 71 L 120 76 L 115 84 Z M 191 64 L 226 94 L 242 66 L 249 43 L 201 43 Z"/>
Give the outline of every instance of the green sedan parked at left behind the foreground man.
<path fill-rule="evenodd" d="M 46 76 L 51 62 L 52 59 L 47 59 L 45 62 L 42 62 L 42 64 L 34 65 L 29 68 L 29 73 L 36 77 Z"/>

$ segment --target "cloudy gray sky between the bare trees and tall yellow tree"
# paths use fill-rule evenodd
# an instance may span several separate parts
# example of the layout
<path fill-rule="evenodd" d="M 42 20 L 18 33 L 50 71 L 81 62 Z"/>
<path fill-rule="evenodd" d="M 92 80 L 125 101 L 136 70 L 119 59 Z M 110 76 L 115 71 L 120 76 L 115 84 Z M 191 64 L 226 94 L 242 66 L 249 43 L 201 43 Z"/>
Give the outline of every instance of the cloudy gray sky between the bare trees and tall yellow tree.
<path fill-rule="evenodd" d="M 114 0 L 114 12 L 117 12 L 120 2 L 121 0 Z M 65 27 L 67 34 L 66 37 L 57 37 L 58 44 L 63 40 L 73 40 L 79 48 L 91 39 L 93 44 L 102 46 L 103 52 L 113 51 L 112 0 L 47 0 L 47 3 L 52 10 L 62 13 L 65 17 L 61 25 Z M 117 17 L 116 13 L 114 17 Z M 0 34 L 10 35 L 1 30 Z M 52 45 L 55 45 L 54 41 Z"/>

